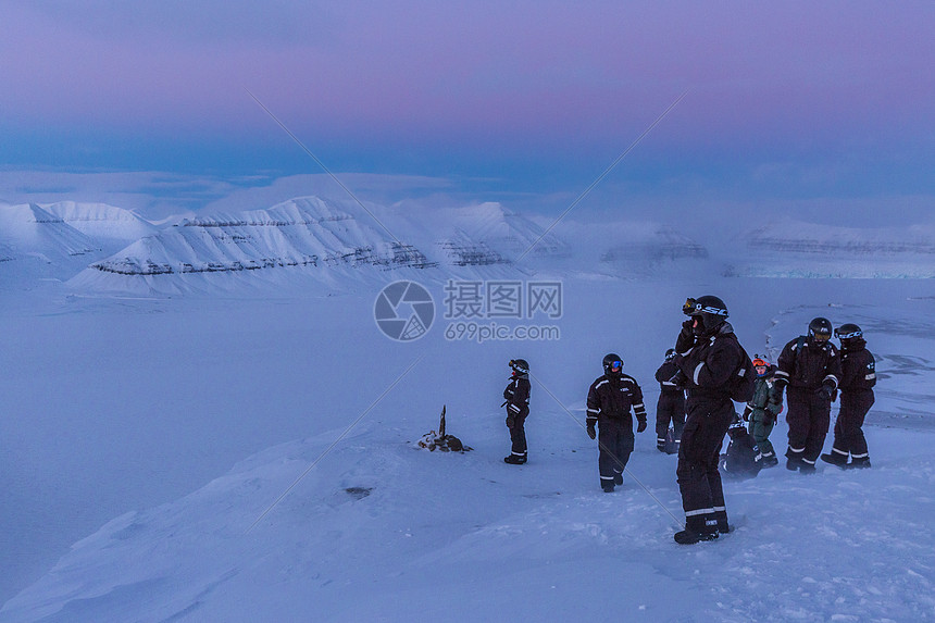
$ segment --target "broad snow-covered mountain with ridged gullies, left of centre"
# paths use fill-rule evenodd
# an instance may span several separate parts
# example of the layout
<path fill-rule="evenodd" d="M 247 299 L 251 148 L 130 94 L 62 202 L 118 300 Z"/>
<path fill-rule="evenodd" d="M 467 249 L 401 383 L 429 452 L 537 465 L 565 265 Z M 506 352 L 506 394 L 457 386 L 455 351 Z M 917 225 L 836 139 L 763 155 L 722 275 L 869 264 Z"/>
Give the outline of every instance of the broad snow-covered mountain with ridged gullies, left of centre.
<path fill-rule="evenodd" d="M 337 286 L 386 270 L 435 265 L 377 223 L 335 202 L 304 197 L 269 210 L 185 220 L 91 264 L 72 285 L 173 292 L 249 286 L 257 277 L 283 284 L 311 276 Z M 217 274 L 225 277 L 214 279 Z"/>

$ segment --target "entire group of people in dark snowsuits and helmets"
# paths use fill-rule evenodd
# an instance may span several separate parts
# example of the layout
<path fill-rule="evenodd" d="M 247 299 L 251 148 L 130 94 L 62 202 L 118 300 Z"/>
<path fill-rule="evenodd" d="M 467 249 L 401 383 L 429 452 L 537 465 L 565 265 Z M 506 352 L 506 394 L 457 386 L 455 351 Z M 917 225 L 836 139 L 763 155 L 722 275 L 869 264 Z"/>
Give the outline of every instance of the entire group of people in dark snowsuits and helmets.
<path fill-rule="evenodd" d="M 753 360 L 747 356 L 720 298 L 689 298 L 683 312 L 688 319 L 682 323 L 675 348 L 666 351 L 656 374 L 660 384 L 657 448 L 666 451 L 666 443 L 673 436 L 677 444 L 675 474 L 685 511 L 685 528 L 675 534 L 677 543 L 713 540 L 730 531 L 719 471 L 721 447 L 728 431 L 732 446 L 735 441 L 740 445 L 735 432 L 749 438 L 747 450 L 757 470 L 778 464 L 769 436 L 783 411 L 784 391 L 789 426 L 788 470 L 813 473 L 819 458 L 845 469 L 870 466 L 862 426 L 873 404 L 876 374 L 860 327 L 847 323 L 833 331 L 827 319 L 816 317 L 809 323 L 808 335 L 786 344 L 776 365 L 770 365 L 761 356 Z M 831 342 L 832 334 L 840 340 L 840 349 Z M 623 483 L 623 471 L 633 452 L 633 415 L 641 433 L 647 427 L 647 414 L 643 391 L 635 378 L 623 373 L 620 356 L 607 354 L 602 365 L 603 375 L 588 389 L 586 431 L 598 440 L 601 489 L 611 493 Z M 510 366 L 513 374 L 503 397 L 512 451 L 503 460 L 523 464 L 527 453 L 524 422 L 529 413 L 529 367 L 522 359 L 511 361 Z M 822 454 L 831 403 L 838 394 L 840 412 L 834 445 L 831 452 Z M 738 396 L 746 401 L 746 431 L 734 408 Z"/>

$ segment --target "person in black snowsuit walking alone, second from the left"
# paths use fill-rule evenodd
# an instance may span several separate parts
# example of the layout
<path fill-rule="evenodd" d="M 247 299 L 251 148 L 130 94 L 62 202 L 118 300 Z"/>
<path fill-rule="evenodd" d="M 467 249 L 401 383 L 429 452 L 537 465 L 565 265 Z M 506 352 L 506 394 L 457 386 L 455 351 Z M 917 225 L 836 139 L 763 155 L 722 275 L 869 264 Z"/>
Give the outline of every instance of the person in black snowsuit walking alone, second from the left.
<path fill-rule="evenodd" d="M 603 376 L 591 383 L 587 393 L 587 434 L 597 437 L 595 425 L 600 424 L 598 471 L 600 488 L 612 493 L 614 485 L 623 484 L 623 470 L 633 452 L 633 418 L 636 414 L 637 433 L 646 431 L 646 407 L 643 390 L 636 379 L 623 373 L 623 360 L 613 352 L 603 358 Z"/>

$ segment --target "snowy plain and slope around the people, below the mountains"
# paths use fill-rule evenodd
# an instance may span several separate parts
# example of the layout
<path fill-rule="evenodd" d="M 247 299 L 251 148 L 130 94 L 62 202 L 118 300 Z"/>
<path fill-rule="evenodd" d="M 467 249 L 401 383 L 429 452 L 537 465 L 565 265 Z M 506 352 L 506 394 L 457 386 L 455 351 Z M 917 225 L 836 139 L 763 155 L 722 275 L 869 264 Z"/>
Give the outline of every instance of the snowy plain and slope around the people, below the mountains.
<path fill-rule="evenodd" d="M 562 282 L 553 341 L 446 339 L 440 309 L 423 338 L 388 339 L 387 283 L 441 307 L 412 267 L 334 296 L 4 290 L 0 621 L 935 621 L 931 279 L 569 262 L 516 275 Z M 726 482 L 736 529 L 683 547 L 675 457 L 650 425 L 601 493 L 584 398 L 620 352 L 651 422 L 652 375 L 702 294 L 751 353 L 815 315 L 864 328 L 874 468 Z M 498 408 L 515 357 L 534 376 L 519 468 Z M 473 451 L 415 447 L 442 404 Z"/>

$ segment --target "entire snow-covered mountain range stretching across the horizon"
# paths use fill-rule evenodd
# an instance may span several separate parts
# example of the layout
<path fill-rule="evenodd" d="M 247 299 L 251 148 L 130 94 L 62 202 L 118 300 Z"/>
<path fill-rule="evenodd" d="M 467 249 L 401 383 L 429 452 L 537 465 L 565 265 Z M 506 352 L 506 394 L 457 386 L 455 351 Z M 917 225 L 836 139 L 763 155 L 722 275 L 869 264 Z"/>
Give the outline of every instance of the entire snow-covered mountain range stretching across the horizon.
<path fill-rule="evenodd" d="M 235 292 L 400 278 L 545 272 L 783 277 L 932 277 L 935 228 L 857 229 L 784 221 L 709 248 L 659 223 L 527 217 L 496 202 L 401 211 L 299 197 L 171 227 L 102 203 L 0 207 L 0 286 L 52 277 L 78 290 Z M 26 285 L 25 287 L 29 287 Z"/>

